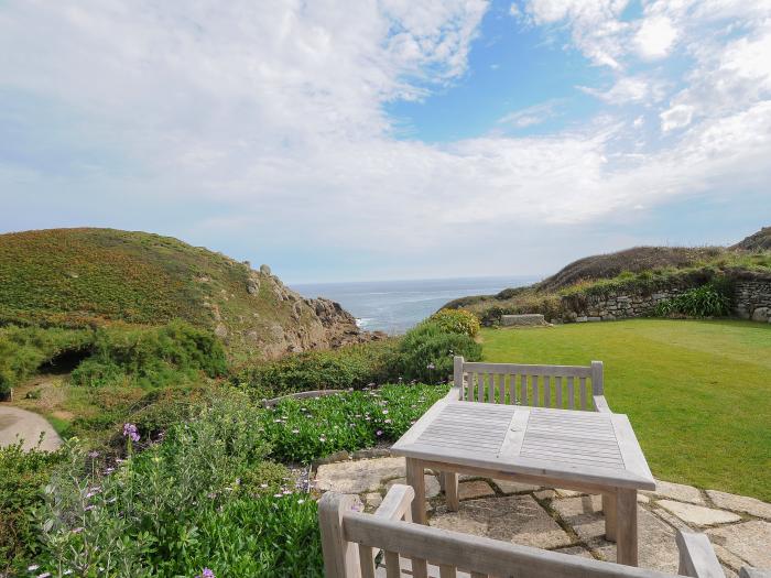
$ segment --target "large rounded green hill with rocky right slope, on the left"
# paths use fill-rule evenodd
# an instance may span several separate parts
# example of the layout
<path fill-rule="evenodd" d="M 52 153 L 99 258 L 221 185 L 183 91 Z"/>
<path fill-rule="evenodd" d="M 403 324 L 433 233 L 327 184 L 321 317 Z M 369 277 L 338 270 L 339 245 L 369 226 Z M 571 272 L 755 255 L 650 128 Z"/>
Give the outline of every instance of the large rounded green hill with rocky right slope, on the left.
<path fill-rule="evenodd" d="M 305 299 L 270 273 L 177 239 L 115 229 L 0 235 L 0 324 L 159 325 L 217 334 L 231 357 L 357 341 L 355 319 Z"/>

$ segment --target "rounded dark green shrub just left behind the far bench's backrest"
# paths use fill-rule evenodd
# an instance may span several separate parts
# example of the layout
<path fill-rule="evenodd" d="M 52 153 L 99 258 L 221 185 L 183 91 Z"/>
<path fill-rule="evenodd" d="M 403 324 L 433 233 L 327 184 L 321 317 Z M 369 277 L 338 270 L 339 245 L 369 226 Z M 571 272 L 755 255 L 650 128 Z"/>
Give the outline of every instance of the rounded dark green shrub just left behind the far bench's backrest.
<path fill-rule="evenodd" d="M 453 374 L 453 357 L 468 361 L 481 359 L 481 346 L 464 334 L 450 334 L 434 323 L 424 321 L 408 331 L 392 361 L 405 380 L 441 383 Z"/>

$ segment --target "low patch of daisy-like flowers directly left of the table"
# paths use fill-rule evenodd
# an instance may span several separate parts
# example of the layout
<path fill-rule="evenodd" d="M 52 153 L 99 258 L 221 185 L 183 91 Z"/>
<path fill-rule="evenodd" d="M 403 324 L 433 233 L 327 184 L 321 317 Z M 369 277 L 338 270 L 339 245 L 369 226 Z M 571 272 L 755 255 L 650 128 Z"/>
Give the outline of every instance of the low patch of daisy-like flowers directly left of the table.
<path fill-rule="evenodd" d="M 395 441 L 447 393 L 435 385 L 384 385 L 313 400 L 286 400 L 259 427 L 282 461 L 311 461 L 334 451 Z"/>

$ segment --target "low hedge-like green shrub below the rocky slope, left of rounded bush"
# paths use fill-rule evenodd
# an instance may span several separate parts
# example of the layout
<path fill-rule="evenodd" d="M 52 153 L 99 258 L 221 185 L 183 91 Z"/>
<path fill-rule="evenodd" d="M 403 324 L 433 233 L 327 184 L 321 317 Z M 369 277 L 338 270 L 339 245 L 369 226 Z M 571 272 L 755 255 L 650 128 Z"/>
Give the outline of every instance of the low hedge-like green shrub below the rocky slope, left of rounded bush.
<path fill-rule="evenodd" d="M 293 353 L 245 369 L 237 384 L 256 397 L 314 390 L 361 389 L 393 377 L 394 341 L 374 341 L 330 351 Z"/>

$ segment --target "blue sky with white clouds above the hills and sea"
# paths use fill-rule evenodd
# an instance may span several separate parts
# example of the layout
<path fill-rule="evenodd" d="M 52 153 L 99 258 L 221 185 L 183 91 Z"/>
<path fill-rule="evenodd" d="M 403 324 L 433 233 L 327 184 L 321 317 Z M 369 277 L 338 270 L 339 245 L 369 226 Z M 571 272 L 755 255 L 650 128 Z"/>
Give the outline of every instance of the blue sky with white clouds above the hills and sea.
<path fill-rule="evenodd" d="M 736 242 L 770 183 L 771 0 L 0 0 L 0 232 L 545 275 Z"/>

